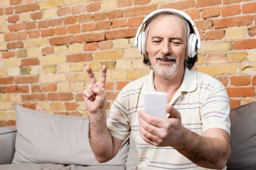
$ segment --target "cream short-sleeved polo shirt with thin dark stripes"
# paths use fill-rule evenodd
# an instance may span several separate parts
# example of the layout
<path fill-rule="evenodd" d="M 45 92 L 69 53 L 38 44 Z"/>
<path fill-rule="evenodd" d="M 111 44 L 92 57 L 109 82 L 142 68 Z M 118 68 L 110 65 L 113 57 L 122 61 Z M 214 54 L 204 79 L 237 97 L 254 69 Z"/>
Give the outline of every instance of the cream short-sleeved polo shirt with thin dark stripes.
<path fill-rule="evenodd" d="M 141 138 L 138 111 L 143 110 L 143 93 L 156 91 L 153 79 L 154 72 L 151 71 L 120 91 L 107 120 L 111 136 L 125 140 L 131 135 L 139 153 L 140 170 L 207 170 L 198 167 L 173 147 L 156 147 Z M 230 134 L 229 98 L 224 85 L 217 79 L 185 68 L 183 82 L 170 104 L 180 112 L 181 123 L 189 130 L 203 136 L 207 129 L 221 128 Z"/>

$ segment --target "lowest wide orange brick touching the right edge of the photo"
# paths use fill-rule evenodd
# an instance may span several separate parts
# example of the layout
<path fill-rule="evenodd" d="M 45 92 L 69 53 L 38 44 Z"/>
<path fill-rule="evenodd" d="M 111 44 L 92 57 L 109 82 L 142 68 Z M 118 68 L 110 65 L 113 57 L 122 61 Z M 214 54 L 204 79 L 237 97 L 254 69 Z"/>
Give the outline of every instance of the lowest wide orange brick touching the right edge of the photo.
<path fill-rule="evenodd" d="M 227 94 L 229 97 L 254 97 L 255 88 L 227 88 Z"/>

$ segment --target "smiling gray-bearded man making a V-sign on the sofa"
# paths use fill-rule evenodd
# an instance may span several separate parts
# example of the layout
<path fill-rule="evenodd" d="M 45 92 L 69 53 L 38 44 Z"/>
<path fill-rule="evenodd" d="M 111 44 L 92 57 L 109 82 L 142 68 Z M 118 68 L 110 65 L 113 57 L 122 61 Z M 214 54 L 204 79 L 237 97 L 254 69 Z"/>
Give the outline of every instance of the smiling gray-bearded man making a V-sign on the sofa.
<path fill-rule="evenodd" d="M 113 159 L 130 135 L 139 153 L 138 169 L 226 169 L 230 156 L 230 120 L 227 91 L 218 80 L 191 68 L 188 58 L 188 21 L 179 14 L 159 12 L 146 22 L 144 63 L 152 71 L 122 89 L 106 122 L 105 81 L 102 66 L 90 82 L 84 101 L 90 119 L 89 138 L 99 162 Z M 143 111 L 143 93 L 168 94 L 168 119 Z"/>

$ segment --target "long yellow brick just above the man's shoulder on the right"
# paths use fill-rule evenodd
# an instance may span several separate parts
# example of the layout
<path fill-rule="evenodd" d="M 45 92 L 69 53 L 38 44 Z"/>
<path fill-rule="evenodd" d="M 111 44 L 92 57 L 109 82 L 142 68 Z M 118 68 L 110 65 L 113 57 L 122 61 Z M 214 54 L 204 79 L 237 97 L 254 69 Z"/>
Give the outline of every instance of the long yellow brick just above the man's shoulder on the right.
<path fill-rule="evenodd" d="M 236 74 L 237 69 L 238 66 L 235 64 L 198 66 L 198 71 L 208 75 Z"/>

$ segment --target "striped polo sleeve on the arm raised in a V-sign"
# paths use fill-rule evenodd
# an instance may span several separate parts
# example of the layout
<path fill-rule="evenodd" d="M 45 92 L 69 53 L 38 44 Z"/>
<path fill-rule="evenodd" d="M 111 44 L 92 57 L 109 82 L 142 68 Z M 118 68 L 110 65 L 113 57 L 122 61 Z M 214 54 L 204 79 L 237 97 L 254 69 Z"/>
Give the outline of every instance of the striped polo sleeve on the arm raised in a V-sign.
<path fill-rule="evenodd" d="M 120 140 L 125 140 L 131 132 L 130 120 L 126 112 L 127 109 L 120 92 L 110 108 L 107 119 L 107 127 L 111 136 Z"/>

